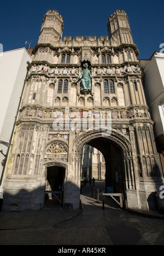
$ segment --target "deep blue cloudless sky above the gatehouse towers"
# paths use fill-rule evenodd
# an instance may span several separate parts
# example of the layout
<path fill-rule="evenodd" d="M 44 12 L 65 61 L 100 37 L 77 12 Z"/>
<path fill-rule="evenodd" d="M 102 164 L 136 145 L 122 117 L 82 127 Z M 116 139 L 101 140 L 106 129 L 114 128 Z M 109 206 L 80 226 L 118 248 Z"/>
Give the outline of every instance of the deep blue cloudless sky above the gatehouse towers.
<path fill-rule="evenodd" d="M 164 43 L 163 0 L 33 0 L 1 1 L 0 44 L 3 50 L 27 48 L 26 41 L 38 42 L 47 10 L 63 16 L 64 36 L 108 36 L 108 17 L 116 9 L 125 10 L 133 41 L 139 49 L 138 59 L 149 59 Z"/>

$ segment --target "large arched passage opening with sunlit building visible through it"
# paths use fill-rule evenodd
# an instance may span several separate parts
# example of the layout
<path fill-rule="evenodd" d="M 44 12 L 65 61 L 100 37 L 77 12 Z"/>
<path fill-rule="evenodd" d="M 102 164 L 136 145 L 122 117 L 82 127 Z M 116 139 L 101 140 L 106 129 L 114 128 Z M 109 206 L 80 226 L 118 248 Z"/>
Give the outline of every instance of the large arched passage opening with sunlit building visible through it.
<path fill-rule="evenodd" d="M 95 153 L 98 154 L 95 155 Z M 88 178 L 95 178 L 95 188 L 99 189 L 100 193 L 125 195 L 125 170 L 122 148 L 109 138 L 98 137 L 87 141 L 81 149 L 80 176 L 81 181 L 85 181 L 85 178 L 87 180 Z M 81 194 L 85 195 L 86 193 L 87 196 L 89 194 L 93 196 L 93 193 L 87 188 L 90 187 L 90 184 L 85 185 L 83 182 L 82 185 Z M 91 183 L 91 186 L 93 187 L 93 183 Z M 106 201 L 109 202 L 109 205 L 116 206 L 116 203 L 113 204 L 111 198 Z"/>

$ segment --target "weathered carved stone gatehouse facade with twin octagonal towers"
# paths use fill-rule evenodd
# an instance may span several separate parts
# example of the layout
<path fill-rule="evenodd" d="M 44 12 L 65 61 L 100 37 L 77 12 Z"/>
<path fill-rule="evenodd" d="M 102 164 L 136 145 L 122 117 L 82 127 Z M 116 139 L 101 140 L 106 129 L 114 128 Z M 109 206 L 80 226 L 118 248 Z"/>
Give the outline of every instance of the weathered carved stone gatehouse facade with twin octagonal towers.
<path fill-rule="evenodd" d="M 42 208 L 52 166 L 54 173 L 55 166 L 65 169 L 63 208 L 79 208 L 85 144 L 103 154 L 106 187 L 124 193 L 125 207 L 154 208 L 163 174 L 138 49 L 125 11 L 109 16 L 107 27 L 109 37 L 62 40 L 62 16 L 45 14 L 3 184 L 4 210 Z M 93 77 L 88 90 L 78 78 L 84 63 Z"/>

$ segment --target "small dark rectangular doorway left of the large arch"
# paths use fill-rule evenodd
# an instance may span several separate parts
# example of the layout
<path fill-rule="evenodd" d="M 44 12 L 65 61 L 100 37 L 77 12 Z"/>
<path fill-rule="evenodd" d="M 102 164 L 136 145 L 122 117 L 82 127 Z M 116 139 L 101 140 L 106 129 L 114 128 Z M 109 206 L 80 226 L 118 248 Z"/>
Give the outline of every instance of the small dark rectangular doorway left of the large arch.
<path fill-rule="evenodd" d="M 63 191 L 65 183 L 65 168 L 61 166 L 47 167 L 45 184 L 45 207 L 63 205 Z"/>

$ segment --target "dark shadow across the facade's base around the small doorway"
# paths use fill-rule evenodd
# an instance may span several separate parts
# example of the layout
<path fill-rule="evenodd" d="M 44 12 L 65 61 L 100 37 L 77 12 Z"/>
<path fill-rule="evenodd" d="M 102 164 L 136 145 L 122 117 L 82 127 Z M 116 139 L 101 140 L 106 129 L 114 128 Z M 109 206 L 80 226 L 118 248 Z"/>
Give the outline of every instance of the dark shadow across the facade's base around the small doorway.
<path fill-rule="evenodd" d="M 47 195 L 45 193 L 45 186 L 35 190 L 4 190 L 2 211 L 38 211 L 44 207 L 63 207 L 63 210 L 65 211 L 72 211 L 80 208 L 80 189 L 77 185 L 71 182 L 66 182 L 62 194 L 63 197 L 61 203 L 58 203 L 58 200 L 52 200 L 52 203 L 49 206 L 46 201 Z"/>

